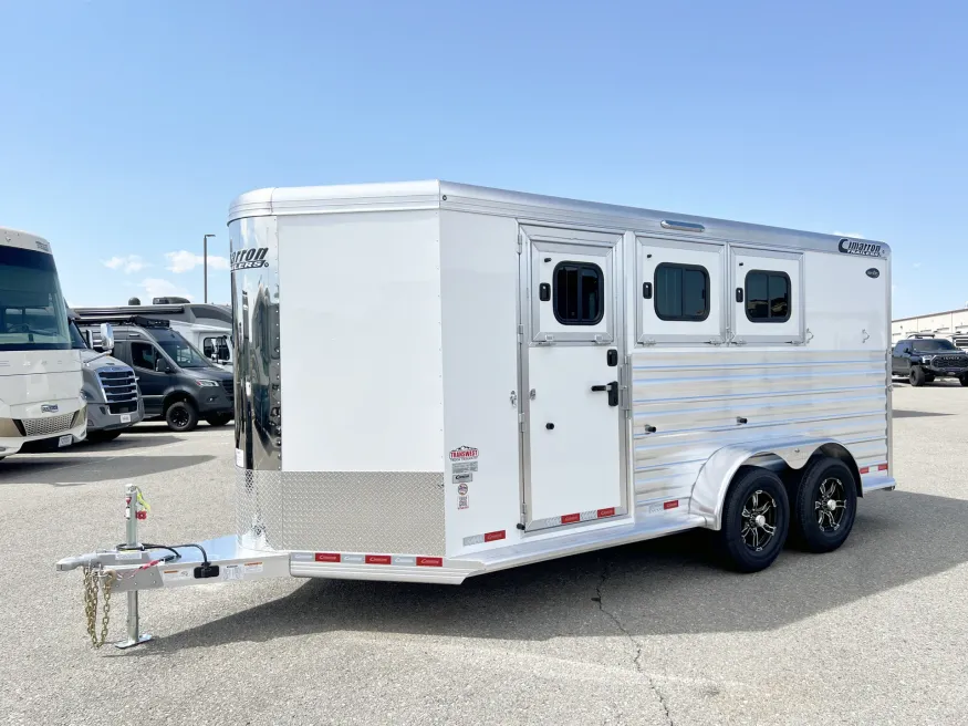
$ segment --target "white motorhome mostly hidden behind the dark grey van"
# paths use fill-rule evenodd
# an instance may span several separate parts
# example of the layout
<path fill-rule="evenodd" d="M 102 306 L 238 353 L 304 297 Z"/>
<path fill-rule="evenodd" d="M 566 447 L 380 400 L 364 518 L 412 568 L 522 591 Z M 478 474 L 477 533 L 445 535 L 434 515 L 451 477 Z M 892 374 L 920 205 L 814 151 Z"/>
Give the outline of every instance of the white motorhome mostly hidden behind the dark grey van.
<path fill-rule="evenodd" d="M 140 315 L 154 320 L 167 320 L 171 330 L 205 353 L 205 356 L 231 369 L 232 310 L 228 305 L 169 301 L 158 298 L 150 305 L 118 305 L 114 308 L 77 308 L 84 320 L 117 320 Z"/>

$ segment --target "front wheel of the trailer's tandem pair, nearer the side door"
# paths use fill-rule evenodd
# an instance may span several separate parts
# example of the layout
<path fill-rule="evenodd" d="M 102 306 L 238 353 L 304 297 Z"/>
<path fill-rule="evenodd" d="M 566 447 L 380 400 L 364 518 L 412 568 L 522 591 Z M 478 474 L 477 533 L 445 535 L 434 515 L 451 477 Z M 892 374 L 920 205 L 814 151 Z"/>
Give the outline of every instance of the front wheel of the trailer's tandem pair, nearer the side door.
<path fill-rule="evenodd" d="M 737 572 L 767 569 L 779 557 L 789 530 L 790 500 L 780 477 L 768 469 L 740 468 L 726 495 L 719 530 L 727 567 Z"/>

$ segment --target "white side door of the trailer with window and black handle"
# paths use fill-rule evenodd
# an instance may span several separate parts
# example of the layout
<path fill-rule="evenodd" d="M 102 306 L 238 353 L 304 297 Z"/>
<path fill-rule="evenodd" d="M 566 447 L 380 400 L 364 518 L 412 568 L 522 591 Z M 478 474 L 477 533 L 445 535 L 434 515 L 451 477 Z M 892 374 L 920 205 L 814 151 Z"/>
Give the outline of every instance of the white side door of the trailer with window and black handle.
<path fill-rule="evenodd" d="M 522 228 L 525 529 L 627 511 L 622 236 Z"/>

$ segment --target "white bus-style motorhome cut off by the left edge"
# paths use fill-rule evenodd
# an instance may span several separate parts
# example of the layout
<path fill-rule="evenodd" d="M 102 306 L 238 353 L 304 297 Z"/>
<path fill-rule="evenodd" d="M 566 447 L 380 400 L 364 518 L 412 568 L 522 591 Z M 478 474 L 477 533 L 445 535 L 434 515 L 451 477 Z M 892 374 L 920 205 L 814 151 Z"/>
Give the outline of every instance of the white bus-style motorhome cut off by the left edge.
<path fill-rule="evenodd" d="M 81 386 L 50 243 L 0 228 L 0 458 L 82 440 Z"/>

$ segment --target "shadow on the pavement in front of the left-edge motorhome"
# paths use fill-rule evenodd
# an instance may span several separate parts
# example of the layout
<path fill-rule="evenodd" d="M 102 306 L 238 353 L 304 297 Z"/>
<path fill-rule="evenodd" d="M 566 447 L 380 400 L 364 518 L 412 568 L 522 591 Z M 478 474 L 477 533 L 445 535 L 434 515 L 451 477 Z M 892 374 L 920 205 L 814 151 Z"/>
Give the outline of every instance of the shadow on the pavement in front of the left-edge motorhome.
<path fill-rule="evenodd" d="M 11 457 L 0 464 L 0 486 L 44 484 L 73 487 L 175 471 L 211 461 L 215 456 L 58 456 Z"/>

